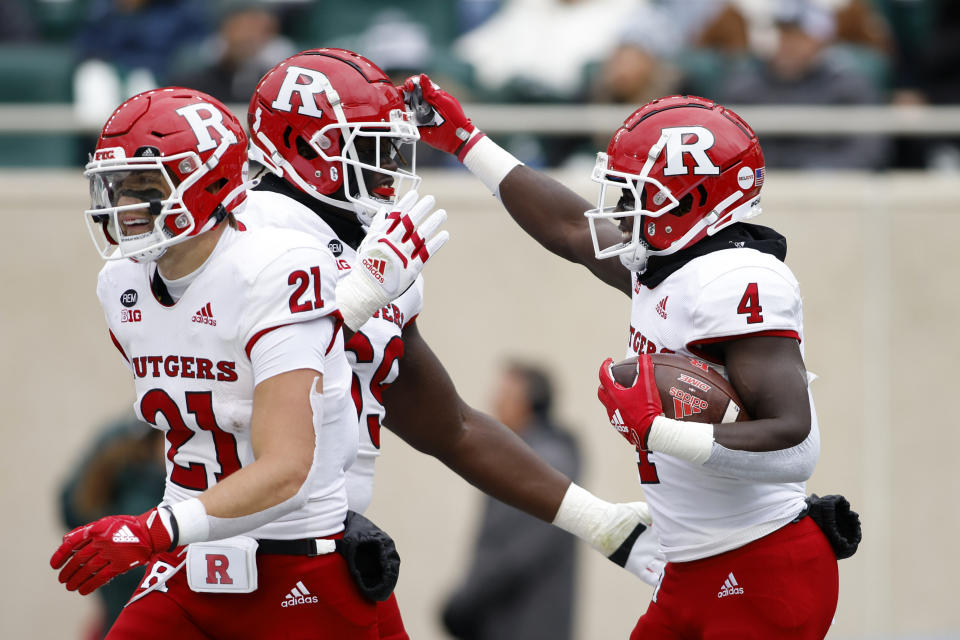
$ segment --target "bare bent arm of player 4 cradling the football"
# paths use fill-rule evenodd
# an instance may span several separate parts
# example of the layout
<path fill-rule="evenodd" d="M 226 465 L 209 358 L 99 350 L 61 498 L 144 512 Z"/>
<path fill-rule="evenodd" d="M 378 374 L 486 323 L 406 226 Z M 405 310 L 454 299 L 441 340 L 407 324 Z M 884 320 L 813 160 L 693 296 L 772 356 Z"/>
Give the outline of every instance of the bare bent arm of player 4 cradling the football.
<path fill-rule="evenodd" d="M 810 433 L 807 369 L 793 338 L 745 337 L 709 345 L 704 352 L 727 367 L 750 420 L 713 425 L 716 442 L 741 451 L 777 451 Z"/>

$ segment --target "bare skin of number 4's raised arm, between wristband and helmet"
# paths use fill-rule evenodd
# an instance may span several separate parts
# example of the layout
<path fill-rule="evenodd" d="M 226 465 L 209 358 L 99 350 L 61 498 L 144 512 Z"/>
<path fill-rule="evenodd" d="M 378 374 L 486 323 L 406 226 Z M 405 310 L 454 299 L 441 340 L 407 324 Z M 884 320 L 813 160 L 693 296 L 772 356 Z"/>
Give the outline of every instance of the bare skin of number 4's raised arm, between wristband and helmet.
<path fill-rule="evenodd" d="M 593 205 L 530 167 L 519 165 L 500 182 L 500 200 L 510 216 L 545 249 L 582 264 L 600 280 L 630 295 L 630 272 L 616 258 L 598 260 L 583 212 Z M 613 224 L 601 224 L 601 242 L 620 241 Z"/>

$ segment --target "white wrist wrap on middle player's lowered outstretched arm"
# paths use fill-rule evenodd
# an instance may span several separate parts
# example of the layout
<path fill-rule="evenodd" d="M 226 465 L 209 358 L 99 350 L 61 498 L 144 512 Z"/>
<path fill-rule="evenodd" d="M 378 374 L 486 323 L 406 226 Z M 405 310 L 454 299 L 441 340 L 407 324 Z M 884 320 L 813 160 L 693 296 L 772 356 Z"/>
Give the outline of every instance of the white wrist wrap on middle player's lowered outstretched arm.
<path fill-rule="evenodd" d="M 650 525 L 645 503 L 612 504 L 571 482 L 553 524 L 577 536 L 605 556 L 616 551 L 637 523 Z"/>

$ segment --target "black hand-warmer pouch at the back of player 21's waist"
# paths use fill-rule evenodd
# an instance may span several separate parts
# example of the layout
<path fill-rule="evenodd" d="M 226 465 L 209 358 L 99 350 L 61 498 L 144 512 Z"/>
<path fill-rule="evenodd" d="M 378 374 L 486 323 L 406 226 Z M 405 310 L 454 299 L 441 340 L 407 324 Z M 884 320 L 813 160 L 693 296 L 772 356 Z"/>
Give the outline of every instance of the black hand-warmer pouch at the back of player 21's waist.
<path fill-rule="evenodd" d="M 337 553 L 347 561 L 360 593 L 374 602 L 390 597 L 400 577 L 400 554 L 383 529 L 359 513 L 347 511 Z"/>

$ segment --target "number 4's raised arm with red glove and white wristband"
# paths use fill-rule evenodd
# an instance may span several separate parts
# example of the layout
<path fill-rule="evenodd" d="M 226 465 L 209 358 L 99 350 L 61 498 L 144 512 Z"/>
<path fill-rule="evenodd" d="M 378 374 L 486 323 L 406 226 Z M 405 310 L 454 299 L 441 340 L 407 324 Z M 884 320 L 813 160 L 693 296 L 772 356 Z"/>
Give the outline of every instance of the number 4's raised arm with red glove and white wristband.
<path fill-rule="evenodd" d="M 426 74 L 407 79 L 403 89 L 424 142 L 455 155 L 548 251 L 584 265 L 629 295 L 630 272 L 619 261 L 598 256 L 598 247 L 620 243 L 621 231 L 614 224 L 588 224 L 584 212 L 593 208 L 590 203 L 493 142 L 467 118 L 457 99 Z"/>

